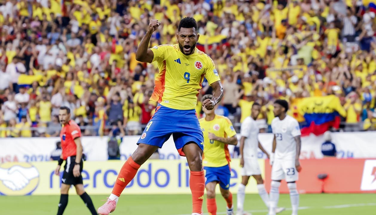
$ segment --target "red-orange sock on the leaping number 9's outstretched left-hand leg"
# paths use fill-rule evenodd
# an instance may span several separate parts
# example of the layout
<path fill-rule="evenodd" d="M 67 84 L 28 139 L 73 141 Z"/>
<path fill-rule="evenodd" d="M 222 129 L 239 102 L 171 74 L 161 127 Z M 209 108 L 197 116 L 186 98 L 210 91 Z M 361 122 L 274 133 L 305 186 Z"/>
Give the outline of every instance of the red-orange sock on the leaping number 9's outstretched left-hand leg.
<path fill-rule="evenodd" d="M 140 167 L 141 165 L 136 164 L 136 162 L 133 161 L 132 157 L 129 157 L 128 160 L 124 163 L 123 167 L 121 167 L 114 188 L 112 189 L 112 194 L 120 196 L 124 188 L 135 177 L 137 170 Z"/>

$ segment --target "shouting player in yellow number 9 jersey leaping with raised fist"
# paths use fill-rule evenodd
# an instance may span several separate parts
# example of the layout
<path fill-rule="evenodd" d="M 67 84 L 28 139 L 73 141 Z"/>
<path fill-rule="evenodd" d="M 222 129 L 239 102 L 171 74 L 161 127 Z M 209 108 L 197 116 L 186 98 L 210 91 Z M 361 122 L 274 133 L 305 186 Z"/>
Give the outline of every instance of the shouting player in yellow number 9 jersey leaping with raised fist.
<path fill-rule="evenodd" d="M 136 60 L 158 62 L 159 74 L 150 100 L 158 102 L 154 116 L 147 124 L 138 148 L 121 168 L 108 201 L 98 209 L 101 215 L 115 210 L 118 197 L 135 177 L 138 168 L 173 135 L 176 149 L 186 156 L 191 170 L 192 215 L 202 214 L 205 176 L 202 168 L 204 137 L 196 115 L 196 103 L 204 77 L 214 95 L 203 101 L 203 108 L 213 110 L 223 96 L 223 89 L 212 59 L 196 48 L 199 39 L 197 23 L 192 17 L 180 20 L 177 44 L 149 46 L 152 33 L 161 23 L 150 20 L 146 35 L 136 51 Z"/>

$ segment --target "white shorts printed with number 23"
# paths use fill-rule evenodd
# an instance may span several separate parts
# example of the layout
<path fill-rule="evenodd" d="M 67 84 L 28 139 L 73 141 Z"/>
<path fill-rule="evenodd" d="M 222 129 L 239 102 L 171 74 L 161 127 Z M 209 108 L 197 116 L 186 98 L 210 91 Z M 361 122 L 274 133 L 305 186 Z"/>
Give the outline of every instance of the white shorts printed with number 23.
<path fill-rule="evenodd" d="M 271 180 L 277 181 L 282 179 L 285 179 L 286 182 L 294 182 L 298 180 L 298 171 L 296 171 L 295 160 L 274 160 L 273 167 L 271 167 Z"/>

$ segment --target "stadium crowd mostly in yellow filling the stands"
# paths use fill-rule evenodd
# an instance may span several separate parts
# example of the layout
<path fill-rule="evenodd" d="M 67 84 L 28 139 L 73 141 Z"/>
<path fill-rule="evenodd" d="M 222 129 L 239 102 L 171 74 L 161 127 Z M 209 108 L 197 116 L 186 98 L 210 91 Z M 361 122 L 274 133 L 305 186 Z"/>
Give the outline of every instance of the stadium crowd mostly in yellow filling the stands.
<path fill-rule="evenodd" d="M 235 125 L 257 101 L 267 132 L 277 98 L 304 123 L 302 98 L 335 94 L 343 122 L 374 130 L 375 12 L 372 0 L 2 1 L 0 137 L 58 136 L 60 106 L 85 135 L 109 132 L 103 126 L 139 134 L 156 106 L 149 97 L 158 68 L 136 61 L 138 43 L 150 19 L 161 21 L 150 47 L 176 43 L 188 16 L 223 82 L 216 112 Z M 198 113 L 207 93 L 204 80 Z"/>

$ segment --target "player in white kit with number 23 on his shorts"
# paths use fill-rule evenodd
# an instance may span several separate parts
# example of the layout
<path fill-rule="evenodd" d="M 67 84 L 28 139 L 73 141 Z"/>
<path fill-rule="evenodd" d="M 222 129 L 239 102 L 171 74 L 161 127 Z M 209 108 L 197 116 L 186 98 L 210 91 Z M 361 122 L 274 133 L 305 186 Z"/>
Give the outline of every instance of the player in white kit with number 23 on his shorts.
<path fill-rule="evenodd" d="M 285 100 L 274 101 L 274 116 L 271 121 L 273 130 L 273 148 L 270 154 L 271 188 L 269 215 L 275 215 L 279 200 L 280 181 L 285 179 L 290 191 L 292 215 L 298 214 L 299 193 L 296 188 L 298 172 L 302 169 L 299 163 L 300 129 L 296 119 L 286 114 L 288 103 Z"/>

